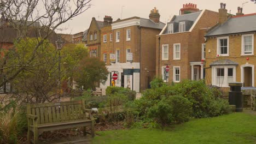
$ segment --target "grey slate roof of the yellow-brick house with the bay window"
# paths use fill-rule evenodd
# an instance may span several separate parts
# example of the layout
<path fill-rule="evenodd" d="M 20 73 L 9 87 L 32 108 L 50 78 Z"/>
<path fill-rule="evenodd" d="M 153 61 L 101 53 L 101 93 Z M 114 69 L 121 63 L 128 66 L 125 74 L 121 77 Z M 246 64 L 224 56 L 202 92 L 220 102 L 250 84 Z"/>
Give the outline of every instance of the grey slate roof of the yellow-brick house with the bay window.
<path fill-rule="evenodd" d="M 205 37 L 256 31 L 256 13 L 233 16 L 222 25 L 216 26 Z"/>

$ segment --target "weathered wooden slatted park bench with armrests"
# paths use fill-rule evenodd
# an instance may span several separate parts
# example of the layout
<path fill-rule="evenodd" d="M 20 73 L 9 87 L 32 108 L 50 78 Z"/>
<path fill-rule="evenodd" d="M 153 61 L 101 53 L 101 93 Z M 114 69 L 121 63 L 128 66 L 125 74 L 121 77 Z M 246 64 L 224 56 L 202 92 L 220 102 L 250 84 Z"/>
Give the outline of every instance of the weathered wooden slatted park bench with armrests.
<path fill-rule="evenodd" d="M 94 137 L 94 117 L 85 109 L 84 100 L 60 103 L 27 104 L 28 143 L 38 143 L 38 136 L 44 131 L 83 127 L 83 133 Z M 86 127 L 91 127 L 90 133 Z M 31 140 L 31 132 L 34 134 Z"/>

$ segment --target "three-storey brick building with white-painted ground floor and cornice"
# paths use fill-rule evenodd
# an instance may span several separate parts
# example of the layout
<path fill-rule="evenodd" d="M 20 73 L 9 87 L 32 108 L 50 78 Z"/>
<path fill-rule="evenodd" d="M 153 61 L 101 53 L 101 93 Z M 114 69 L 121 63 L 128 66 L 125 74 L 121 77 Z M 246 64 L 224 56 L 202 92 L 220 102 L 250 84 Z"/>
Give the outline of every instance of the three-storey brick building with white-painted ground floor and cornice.
<path fill-rule="evenodd" d="M 154 8 L 149 19 L 130 17 L 102 27 L 101 60 L 106 62 L 110 74 L 101 88 L 111 85 L 114 73 L 118 74 L 115 86 L 136 92 L 148 88 L 155 76 L 155 35 L 164 26 L 158 10 Z"/>

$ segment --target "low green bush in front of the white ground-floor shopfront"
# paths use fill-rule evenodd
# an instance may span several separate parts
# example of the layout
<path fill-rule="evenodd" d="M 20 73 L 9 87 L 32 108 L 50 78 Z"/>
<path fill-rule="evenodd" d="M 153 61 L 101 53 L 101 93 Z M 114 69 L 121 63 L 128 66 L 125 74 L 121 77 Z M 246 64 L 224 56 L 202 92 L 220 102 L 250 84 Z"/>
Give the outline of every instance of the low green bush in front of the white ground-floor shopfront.
<path fill-rule="evenodd" d="M 124 94 L 128 100 L 135 100 L 136 98 L 136 92 L 131 91 L 129 88 L 123 88 L 123 87 L 107 87 L 106 89 L 106 95 L 111 95 L 111 94 Z"/>

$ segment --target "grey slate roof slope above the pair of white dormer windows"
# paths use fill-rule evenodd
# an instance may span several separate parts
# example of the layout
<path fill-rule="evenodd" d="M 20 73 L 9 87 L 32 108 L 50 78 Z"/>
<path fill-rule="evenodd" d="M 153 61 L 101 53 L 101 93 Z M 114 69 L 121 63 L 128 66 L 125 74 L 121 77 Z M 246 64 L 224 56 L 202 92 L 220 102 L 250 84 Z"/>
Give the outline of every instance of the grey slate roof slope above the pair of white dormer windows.
<path fill-rule="evenodd" d="M 180 22 L 180 21 L 193 21 L 195 22 L 197 17 L 201 14 L 202 10 L 197 11 L 195 13 L 185 14 L 185 15 L 176 15 L 174 16 L 174 19 L 171 20 L 171 22 Z"/>

